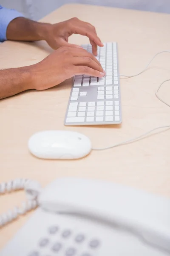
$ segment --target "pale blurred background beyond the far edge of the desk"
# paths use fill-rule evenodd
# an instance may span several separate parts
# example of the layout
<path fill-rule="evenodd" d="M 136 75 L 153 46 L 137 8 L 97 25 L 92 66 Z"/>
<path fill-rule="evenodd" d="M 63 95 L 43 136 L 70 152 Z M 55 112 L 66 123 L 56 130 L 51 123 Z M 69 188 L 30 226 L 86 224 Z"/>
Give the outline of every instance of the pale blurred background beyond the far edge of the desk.
<path fill-rule="evenodd" d="M 103 6 L 170 13 L 170 0 L 0 0 L 0 4 L 38 20 L 65 3 L 87 3 Z"/>

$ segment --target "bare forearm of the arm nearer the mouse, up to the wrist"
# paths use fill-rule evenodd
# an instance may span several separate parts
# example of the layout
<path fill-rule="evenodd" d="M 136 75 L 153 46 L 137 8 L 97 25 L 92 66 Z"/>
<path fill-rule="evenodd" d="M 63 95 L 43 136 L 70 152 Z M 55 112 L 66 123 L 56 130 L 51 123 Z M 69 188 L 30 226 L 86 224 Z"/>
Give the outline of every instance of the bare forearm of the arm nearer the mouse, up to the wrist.
<path fill-rule="evenodd" d="M 0 70 L 0 99 L 32 88 L 33 78 L 29 67 Z"/>

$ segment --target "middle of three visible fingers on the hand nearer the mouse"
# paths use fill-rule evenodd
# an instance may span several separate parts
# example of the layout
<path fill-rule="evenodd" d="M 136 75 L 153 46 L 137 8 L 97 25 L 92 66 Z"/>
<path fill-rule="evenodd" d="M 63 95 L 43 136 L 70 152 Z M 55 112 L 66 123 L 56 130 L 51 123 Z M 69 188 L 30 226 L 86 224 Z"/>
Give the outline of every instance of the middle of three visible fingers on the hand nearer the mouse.
<path fill-rule="evenodd" d="M 94 70 L 104 73 L 102 67 L 89 57 L 76 57 L 74 58 L 73 64 L 76 66 L 91 67 Z"/>

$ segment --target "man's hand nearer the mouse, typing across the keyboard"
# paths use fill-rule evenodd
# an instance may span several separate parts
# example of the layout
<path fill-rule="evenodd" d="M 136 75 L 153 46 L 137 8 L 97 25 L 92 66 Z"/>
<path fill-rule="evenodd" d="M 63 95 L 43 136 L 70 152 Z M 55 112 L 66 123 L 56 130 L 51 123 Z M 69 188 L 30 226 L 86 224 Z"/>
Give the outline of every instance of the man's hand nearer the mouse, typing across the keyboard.
<path fill-rule="evenodd" d="M 75 75 L 105 76 L 101 64 L 91 53 L 74 47 L 60 47 L 45 59 L 30 66 L 31 88 L 45 90 Z"/>

